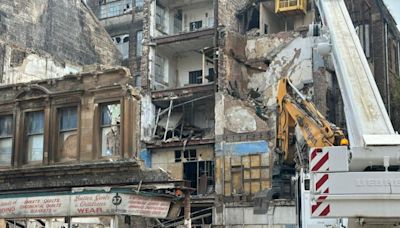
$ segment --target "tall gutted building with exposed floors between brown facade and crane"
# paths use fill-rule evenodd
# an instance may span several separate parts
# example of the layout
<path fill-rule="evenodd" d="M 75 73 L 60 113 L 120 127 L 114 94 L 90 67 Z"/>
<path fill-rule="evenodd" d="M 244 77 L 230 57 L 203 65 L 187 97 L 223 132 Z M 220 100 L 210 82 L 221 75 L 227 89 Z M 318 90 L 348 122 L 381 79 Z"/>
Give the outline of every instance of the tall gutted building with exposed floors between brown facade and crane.
<path fill-rule="evenodd" d="M 289 77 L 345 127 L 335 72 L 314 48 L 318 38 L 309 36 L 314 7 L 278 0 L 144 3 L 140 157 L 149 168 L 191 181 L 193 210 L 212 208 L 214 226 L 296 223 L 294 202 L 268 209 L 265 198 L 278 78 Z"/>

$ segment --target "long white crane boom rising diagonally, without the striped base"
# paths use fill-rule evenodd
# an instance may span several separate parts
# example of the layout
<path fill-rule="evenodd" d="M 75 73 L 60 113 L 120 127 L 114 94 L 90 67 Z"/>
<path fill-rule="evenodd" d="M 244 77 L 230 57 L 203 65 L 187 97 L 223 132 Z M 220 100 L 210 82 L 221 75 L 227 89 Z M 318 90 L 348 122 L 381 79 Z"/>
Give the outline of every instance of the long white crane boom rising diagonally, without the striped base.
<path fill-rule="evenodd" d="M 343 0 L 317 0 L 329 29 L 350 145 L 400 145 Z"/>

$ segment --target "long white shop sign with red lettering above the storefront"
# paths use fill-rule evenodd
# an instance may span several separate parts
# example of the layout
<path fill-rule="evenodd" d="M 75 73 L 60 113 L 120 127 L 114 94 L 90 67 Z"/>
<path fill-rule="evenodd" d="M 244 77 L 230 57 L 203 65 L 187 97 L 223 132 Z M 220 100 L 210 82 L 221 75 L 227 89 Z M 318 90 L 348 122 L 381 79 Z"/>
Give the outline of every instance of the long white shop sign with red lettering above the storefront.
<path fill-rule="evenodd" d="M 113 204 L 115 193 L 40 196 L 0 199 L 0 218 L 137 215 L 166 218 L 170 200 L 133 194 L 120 194 L 120 205 Z"/>

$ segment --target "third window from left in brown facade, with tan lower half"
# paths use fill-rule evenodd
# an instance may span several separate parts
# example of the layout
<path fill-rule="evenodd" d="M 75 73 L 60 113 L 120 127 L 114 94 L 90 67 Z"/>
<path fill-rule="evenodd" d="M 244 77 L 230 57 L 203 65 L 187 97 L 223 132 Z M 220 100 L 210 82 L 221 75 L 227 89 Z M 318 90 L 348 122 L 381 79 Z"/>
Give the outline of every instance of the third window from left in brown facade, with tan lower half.
<path fill-rule="evenodd" d="M 58 161 L 75 160 L 78 151 L 77 107 L 61 108 L 58 111 Z"/>

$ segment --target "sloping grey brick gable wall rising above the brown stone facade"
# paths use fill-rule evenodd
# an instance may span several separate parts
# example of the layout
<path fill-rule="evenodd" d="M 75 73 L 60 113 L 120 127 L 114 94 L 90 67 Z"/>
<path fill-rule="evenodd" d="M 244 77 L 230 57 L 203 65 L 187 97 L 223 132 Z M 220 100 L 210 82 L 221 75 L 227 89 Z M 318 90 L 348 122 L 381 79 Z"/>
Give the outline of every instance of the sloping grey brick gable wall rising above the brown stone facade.
<path fill-rule="evenodd" d="M 118 65 L 120 54 L 81 1 L 4 1 L 0 60 L 0 83 L 10 84 Z"/>

